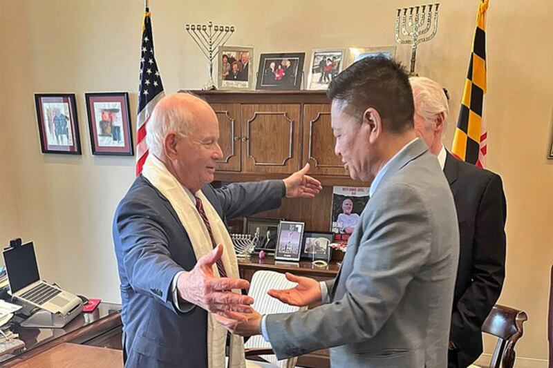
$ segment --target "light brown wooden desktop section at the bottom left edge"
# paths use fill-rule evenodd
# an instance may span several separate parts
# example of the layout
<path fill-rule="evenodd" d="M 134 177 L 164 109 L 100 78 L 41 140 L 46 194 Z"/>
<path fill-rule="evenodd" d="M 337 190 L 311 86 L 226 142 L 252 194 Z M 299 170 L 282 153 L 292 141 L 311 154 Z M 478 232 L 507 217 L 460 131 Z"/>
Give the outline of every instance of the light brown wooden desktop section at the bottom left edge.
<path fill-rule="evenodd" d="M 14 367 L 17 368 L 120 368 L 123 353 L 106 347 L 91 347 L 64 342 Z"/>

